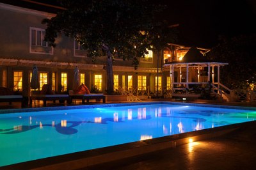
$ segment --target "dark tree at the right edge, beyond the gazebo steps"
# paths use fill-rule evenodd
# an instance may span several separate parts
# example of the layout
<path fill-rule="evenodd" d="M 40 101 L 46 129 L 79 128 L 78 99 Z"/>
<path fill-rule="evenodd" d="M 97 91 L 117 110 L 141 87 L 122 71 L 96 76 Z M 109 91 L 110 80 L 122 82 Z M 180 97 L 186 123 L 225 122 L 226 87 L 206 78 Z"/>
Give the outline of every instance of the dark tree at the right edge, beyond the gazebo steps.
<path fill-rule="evenodd" d="M 232 89 L 248 86 L 256 78 L 256 35 L 240 35 L 221 38 L 221 42 L 209 52 L 214 61 L 228 63 L 221 68 L 221 82 Z"/>

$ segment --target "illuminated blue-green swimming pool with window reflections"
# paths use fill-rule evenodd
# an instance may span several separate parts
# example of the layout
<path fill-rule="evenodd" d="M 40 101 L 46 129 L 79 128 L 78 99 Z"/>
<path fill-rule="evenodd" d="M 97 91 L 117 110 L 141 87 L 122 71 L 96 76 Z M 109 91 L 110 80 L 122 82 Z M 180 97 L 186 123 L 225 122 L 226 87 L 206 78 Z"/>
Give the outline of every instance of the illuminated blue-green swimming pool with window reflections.
<path fill-rule="evenodd" d="M 0 166 L 256 118 L 255 110 L 205 106 L 105 104 L 0 114 Z"/>

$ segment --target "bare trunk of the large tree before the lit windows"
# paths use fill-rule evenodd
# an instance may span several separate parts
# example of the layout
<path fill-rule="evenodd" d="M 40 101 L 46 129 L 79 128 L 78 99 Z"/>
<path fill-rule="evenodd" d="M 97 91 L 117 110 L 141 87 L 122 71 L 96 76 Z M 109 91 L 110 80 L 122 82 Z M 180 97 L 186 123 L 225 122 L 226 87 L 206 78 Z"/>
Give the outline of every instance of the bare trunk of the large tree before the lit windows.
<path fill-rule="evenodd" d="M 104 49 L 107 53 L 107 63 L 106 63 L 106 71 L 107 71 L 107 93 L 108 95 L 113 94 L 114 91 L 114 80 L 113 80 L 113 59 L 111 56 L 111 52 L 107 45 L 103 44 L 102 49 Z"/>

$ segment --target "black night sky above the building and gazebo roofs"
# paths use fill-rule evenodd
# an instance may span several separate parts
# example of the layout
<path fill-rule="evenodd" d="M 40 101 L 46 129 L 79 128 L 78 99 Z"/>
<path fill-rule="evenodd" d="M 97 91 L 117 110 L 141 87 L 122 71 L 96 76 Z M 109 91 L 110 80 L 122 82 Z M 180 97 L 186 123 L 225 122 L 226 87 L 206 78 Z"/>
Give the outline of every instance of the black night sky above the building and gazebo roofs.
<path fill-rule="evenodd" d="M 20 5 L 37 1 L 56 5 L 56 0 L 0 0 Z M 163 15 L 172 24 L 179 24 L 181 45 L 210 48 L 218 37 L 256 33 L 255 0 L 149 0 L 167 4 Z M 34 5 L 36 6 L 36 5 Z M 38 6 L 37 8 L 42 8 Z M 46 9 L 46 8 L 45 8 Z M 56 9 L 54 9 L 56 10 Z M 49 11 L 51 12 L 51 11 Z"/>

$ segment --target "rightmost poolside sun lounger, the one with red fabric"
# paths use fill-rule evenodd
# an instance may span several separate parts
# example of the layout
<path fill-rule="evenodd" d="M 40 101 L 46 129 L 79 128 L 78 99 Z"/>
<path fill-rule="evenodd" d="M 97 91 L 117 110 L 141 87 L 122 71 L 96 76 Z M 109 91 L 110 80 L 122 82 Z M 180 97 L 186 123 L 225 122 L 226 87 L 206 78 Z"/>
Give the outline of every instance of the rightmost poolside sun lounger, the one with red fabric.
<path fill-rule="evenodd" d="M 84 100 L 86 100 L 86 102 L 89 102 L 89 100 L 91 99 L 95 99 L 96 101 L 100 101 L 102 99 L 102 102 L 106 103 L 106 96 L 104 96 L 102 93 L 74 94 L 74 91 L 70 90 L 69 97 L 70 102 L 72 102 L 72 99 L 81 99 L 82 103 L 84 104 Z"/>

